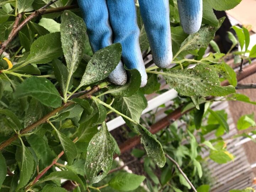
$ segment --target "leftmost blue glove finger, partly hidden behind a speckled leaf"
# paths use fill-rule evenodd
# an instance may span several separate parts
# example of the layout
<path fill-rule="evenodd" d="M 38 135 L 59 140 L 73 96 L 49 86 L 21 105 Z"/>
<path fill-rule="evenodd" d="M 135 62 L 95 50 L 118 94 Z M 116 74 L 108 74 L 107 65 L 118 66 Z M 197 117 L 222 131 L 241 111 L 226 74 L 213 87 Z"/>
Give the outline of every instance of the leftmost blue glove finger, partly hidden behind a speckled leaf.
<path fill-rule="evenodd" d="M 86 23 L 92 51 L 95 53 L 99 49 L 110 46 L 113 43 L 113 33 L 106 0 L 78 0 L 78 4 Z M 121 61 L 108 78 L 116 85 L 126 83 L 127 74 Z"/>

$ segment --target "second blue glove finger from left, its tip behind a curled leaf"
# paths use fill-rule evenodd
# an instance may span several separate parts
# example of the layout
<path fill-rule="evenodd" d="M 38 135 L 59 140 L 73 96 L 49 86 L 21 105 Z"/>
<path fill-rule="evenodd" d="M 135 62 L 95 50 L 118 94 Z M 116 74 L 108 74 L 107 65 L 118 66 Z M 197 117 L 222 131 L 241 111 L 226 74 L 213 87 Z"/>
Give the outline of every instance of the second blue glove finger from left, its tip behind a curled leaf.
<path fill-rule="evenodd" d="M 107 0 L 114 43 L 122 45 L 122 60 L 129 69 L 137 69 L 146 85 L 147 74 L 139 46 L 139 27 L 134 0 Z"/>

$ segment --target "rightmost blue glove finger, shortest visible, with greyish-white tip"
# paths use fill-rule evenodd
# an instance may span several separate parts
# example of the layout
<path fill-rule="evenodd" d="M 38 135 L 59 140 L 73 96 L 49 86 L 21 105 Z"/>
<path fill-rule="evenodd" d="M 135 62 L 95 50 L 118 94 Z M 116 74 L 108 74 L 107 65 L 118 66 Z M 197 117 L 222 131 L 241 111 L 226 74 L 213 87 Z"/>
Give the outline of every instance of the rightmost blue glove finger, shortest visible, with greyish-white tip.
<path fill-rule="evenodd" d="M 196 33 L 202 23 L 202 0 L 177 0 L 181 26 L 185 33 Z"/>

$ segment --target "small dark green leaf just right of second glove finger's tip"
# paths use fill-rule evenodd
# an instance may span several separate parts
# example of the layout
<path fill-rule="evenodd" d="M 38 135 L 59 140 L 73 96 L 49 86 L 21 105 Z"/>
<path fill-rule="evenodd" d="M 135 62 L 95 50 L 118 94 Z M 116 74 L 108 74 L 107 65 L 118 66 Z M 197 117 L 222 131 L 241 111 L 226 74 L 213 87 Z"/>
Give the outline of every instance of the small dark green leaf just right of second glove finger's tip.
<path fill-rule="evenodd" d="M 141 87 L 139 92 L 149 95 L 155 91 L 158 91 L 160 89 L 160 85 L 161 84 L 158 82 L 158 76 L 156 74 L 149 74 L 146 86 Z"/>

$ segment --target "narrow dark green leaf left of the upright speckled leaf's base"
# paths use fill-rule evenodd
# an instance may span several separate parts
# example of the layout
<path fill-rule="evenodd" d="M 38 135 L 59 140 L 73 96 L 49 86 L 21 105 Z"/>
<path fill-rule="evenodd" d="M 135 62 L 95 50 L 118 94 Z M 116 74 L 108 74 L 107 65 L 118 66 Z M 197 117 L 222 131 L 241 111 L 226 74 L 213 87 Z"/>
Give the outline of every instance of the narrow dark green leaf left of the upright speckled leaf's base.
<path fill-rule="evenodd" d="M 64 93 L 66 86 L 70 87 L 72 85 L 73 79 L 71 78 L 69 85 L 66 85 L 67 79 L 68 79 L 68 69 L 60 60 L 54 59 L 52 62 L 52 66 L 53 66 L 53 73 L 57 81 L 59 82 L 62 93 Z"/>

